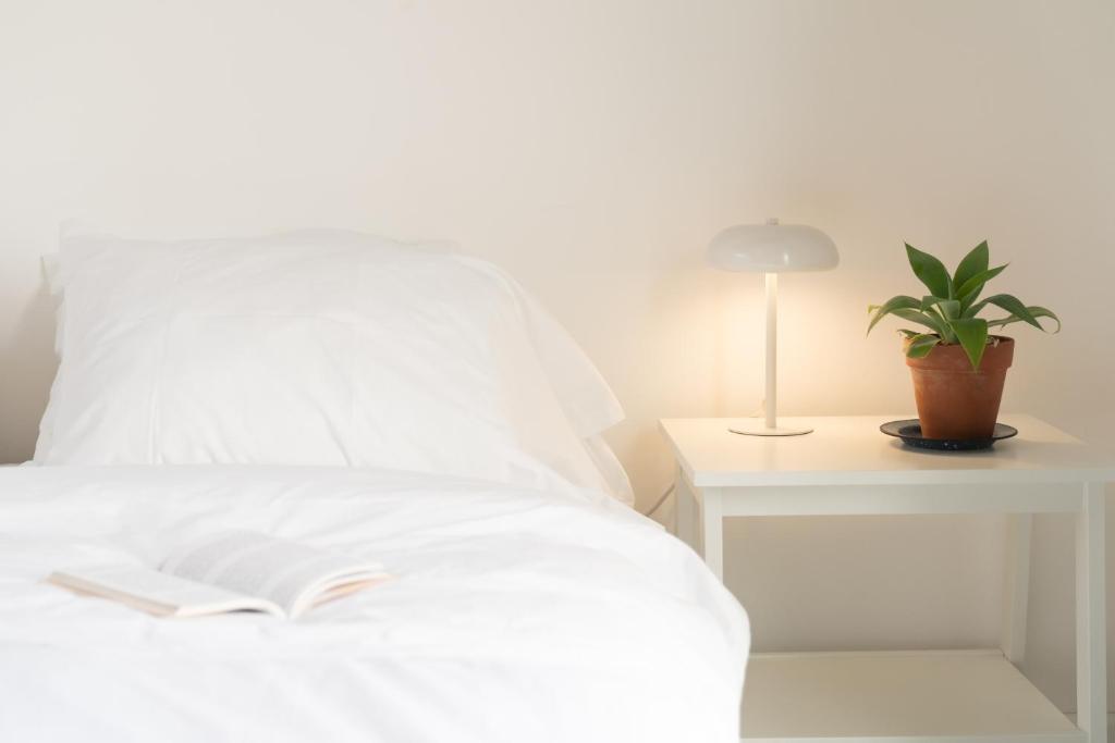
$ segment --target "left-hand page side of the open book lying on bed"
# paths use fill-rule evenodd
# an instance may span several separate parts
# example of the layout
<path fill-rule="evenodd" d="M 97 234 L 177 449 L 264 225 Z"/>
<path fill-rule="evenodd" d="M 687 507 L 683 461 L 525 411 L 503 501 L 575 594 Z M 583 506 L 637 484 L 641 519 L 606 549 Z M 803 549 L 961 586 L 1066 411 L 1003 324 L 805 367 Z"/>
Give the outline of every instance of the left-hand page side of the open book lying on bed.
<path fill-rule="evenodd" d="M 282 616 L 270 602 L 166 575 L 139 565 L 56 571 L 47 578 L 80 594 L 110 598 L 156 616 L 256 610 Z"/>

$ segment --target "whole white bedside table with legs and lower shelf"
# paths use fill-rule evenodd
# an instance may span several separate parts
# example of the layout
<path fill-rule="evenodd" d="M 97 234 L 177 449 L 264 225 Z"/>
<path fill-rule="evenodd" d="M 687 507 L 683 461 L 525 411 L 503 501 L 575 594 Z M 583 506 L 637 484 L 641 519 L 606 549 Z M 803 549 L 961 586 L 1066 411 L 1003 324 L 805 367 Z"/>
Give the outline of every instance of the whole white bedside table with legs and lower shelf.
<path fill-rule="evenodd" d="M 724 577 L 724 519 L 736 516 L 1012 515 L 999 648 L 757 653 L 744 690 L 745 740 L 886 743 L 1106 743 L 1104 482 L 1113 457 L 1029 416 L 978 452 L 905 448 L 879 431 L 901 416 L 785 418 L 808 436 L 728 431 L 734 419 L 661 428 L 678 462 L 678 536 Z M 1016 665 L 1026 643 L 1031 514 L 1076 515 L 1077 725 Z"/>

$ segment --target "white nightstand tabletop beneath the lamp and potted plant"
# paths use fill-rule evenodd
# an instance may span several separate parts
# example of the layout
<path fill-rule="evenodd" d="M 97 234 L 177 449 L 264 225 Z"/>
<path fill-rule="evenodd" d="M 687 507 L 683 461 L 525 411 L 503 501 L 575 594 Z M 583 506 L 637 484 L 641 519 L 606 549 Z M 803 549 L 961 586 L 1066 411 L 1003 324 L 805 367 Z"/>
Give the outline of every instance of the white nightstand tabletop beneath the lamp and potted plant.
<path fill-rule="evenodd" d="M 726 418 L 666 419 L 661 428 L 697 487 L 1115 480 L 1113 452 L 1032 416 L 1001 416 L 1018 436 L 968 452 L 910 449 L 879 430 L 902 418 L 915 416 L 779 418 L 814 429 L 795 437 L 740 436 L 728 431 L 739 419 Z"/>

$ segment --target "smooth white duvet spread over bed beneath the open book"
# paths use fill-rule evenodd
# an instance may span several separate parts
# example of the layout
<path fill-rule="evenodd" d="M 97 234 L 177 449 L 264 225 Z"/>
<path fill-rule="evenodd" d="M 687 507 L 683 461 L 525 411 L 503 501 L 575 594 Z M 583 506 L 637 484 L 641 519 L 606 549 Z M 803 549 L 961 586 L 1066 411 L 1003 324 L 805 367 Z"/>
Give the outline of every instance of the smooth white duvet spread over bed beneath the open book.
<path fill-rule="evenodd" d="M 242 527 L 396 579 L 298 622 L 156 619 L 61 567 Z M 743 609 L 603 495 L 342 468 L 0 469 L 0 741 L 738 740 Z"/>

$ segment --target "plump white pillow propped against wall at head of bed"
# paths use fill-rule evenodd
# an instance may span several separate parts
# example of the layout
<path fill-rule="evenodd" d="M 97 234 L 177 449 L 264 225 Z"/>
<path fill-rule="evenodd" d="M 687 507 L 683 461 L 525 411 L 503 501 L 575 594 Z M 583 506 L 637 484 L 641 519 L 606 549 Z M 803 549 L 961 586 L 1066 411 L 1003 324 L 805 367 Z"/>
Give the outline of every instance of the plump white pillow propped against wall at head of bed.
<path fill-rule="evenodd" d="M 39 463 L 391 467 L 630 498 L 597 463 L 614 395 L 483 261 L 341 232 L 69 234 L 52 284 Z"/>

